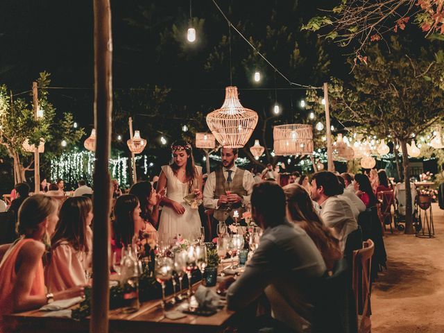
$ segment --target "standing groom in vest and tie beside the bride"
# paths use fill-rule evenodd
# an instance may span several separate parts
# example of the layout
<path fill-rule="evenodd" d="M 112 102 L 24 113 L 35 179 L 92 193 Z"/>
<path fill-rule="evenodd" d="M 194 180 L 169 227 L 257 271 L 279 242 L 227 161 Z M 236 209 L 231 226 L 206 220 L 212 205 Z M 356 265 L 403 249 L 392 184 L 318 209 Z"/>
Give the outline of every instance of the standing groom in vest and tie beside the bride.
<path fill-rule="evenodd" d="M 207 209 L 214 209 L 212 223 L 212 237 L 216 236 L 216 227 L 219 221 L 233 222 L 234 211 L 237 210 L 239 220 L 250 204 L 250 195 L 255 180 L 253 175 L 236 166 L 237 149 L 222 148 L 222 167 L 210 173 L 205 189 L 203 190 L 203 205 Z"/>

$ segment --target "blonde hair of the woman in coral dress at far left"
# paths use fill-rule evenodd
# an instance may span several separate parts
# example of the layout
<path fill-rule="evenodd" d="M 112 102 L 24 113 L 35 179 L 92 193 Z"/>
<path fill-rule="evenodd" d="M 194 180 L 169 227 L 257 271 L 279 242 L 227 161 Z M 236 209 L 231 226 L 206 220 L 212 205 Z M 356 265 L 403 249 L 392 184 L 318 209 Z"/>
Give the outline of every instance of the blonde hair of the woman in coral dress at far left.
<path fill-rule="evenodd" d="M 26 198 L 19 208 L 19 218 L 16 225 L 17 234 L 30 236 L 46 217 L 57 210 L 58 203 L 50 196 L 35 194 Z"/>

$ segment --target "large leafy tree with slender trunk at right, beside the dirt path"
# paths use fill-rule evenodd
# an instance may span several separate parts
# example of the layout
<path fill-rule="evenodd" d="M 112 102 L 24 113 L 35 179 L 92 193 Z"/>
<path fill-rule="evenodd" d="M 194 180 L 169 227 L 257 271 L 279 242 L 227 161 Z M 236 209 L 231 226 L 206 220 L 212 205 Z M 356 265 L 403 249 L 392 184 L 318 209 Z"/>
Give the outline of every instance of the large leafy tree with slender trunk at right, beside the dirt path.
<path fill-rule="evenodd" d="M 369 134 L 391 135 L 400 142 L 406 210 L 411 212 L 407 143 L 443 117 L 444 52 L 407 49 L 405 44 L 393 36 L 391 53 L 371 46 L 367 65 L 360 64 L 353 71 L 355 80 L 346 85 L 332 78 L 329 94 L 334 117 L 358 123 Z M 406 233 L 413 233 L 411 214 L 407 214 Z"/>

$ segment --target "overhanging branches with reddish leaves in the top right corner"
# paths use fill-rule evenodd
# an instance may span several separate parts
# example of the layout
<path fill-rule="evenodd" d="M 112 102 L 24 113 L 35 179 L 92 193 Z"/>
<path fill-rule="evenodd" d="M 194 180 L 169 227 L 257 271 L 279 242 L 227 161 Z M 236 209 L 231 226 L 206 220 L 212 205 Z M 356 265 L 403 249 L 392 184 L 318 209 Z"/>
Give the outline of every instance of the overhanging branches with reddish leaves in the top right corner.
<path fill-rule="evenodd" d="M 339 1 L 338 1 L 339 2 Z M 403 31 L 413 22 L 426 37 L 444 39 L 444 7 L 441 0 L 341 0 L 326 15 L 312 17 L 302 29 L 325 31 L 323 37 L 340 46 L 354 46 L 355 60 L 366 61 L 362 53 L 371 42 L 384 40 L 388 33 Z"/>

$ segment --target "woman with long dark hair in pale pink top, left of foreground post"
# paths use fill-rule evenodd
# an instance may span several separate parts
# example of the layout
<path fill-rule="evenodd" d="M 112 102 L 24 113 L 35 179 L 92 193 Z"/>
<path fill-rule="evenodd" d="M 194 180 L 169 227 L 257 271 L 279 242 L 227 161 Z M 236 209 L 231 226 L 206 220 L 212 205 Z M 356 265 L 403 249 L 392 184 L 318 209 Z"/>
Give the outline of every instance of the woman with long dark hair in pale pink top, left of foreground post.
<path fill-rule="evenodd" d="M 85 271 L 91 264 L 91 199 L 85 196 L 67 198 L 59 216 L 44 269 L 46 286 L 51 293 L 87 284 Z"/>

